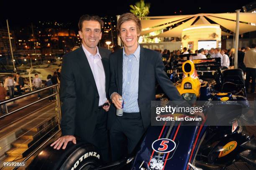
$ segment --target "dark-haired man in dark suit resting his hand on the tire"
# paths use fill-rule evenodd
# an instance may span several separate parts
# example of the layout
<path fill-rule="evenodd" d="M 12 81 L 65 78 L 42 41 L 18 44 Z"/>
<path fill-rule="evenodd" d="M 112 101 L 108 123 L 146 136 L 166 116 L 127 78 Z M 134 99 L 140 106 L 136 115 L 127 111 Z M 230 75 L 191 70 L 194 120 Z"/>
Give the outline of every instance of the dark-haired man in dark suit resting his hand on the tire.
<path fill-rule="evenodd" d="M 97 47 L 103 27 L 99 16 L 83 15 L 78 25 L 82 46 L 64 56 L 61 68 L 62 136 L 51 146 L 65 149 L 69 141 L 76 144 L 80 137 L 98 147 L 103 161 L 108 162 L 109 106 L 102 105 L 109 104 L 110 51 Z"/>

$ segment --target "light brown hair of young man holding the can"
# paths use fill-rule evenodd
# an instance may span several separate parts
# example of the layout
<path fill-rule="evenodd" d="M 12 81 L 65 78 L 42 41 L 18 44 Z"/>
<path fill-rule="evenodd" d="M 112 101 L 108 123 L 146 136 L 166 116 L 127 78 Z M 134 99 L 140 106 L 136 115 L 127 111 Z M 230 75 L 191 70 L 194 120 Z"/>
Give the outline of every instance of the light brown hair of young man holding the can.
<path fill-rule="evenodd" d="M 120 35 L 120 29 L 121 25 L 129 20 L 132 20 L 137 25 L 137 33 L 141 33 L 141 20 L 133 13 L 124 13 L 120 16 L 118 23 L 117 23 L 117 29 L 118 29 L 118 35 Z"/>

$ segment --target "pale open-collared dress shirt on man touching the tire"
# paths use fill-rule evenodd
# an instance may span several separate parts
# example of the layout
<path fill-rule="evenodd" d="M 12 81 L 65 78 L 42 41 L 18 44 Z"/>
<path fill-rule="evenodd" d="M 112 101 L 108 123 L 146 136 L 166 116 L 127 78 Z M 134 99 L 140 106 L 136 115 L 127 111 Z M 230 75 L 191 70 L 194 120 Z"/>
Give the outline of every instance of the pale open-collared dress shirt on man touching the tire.
<path fill-rule="evenodd" d="M 105 71 L 102 65 L 101 56 L 99 53 L 99 49 L 97 47 L 97 53 L 95 55 L 91 54 L 87 51 L 86 48 L 82 45 L 86 58 L 90 64 L 90 68 L 92 70 L 92 74 L 97 86 L 98 94 L 100 96 L 99 106 L 105 103 L 106 98 L 106 87 L 105 87 Z"/>

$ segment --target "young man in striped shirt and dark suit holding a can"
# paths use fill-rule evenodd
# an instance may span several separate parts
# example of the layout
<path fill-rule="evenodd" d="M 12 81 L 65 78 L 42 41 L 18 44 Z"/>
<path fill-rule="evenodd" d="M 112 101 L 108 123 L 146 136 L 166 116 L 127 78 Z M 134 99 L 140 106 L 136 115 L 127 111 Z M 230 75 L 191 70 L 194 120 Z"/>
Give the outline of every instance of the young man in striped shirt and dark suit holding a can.
<path fill-rule="evenodd" d="M 178 90 L 167 77 L 161 54 L 138 45 L 141 21 L 132 13 L 120 16 L 118 34 L 124 48 L 110 54 L 109 94 L 123 116 L 116 116 L 111 105 L 108 114 L 110 144 L 114 161 L 131 153 L 151 123 L 151 101 L 155 100 L 156 80 L 172 100 L 182 100 Z M 125 146 L 128 145 L 128 147 Z"/>

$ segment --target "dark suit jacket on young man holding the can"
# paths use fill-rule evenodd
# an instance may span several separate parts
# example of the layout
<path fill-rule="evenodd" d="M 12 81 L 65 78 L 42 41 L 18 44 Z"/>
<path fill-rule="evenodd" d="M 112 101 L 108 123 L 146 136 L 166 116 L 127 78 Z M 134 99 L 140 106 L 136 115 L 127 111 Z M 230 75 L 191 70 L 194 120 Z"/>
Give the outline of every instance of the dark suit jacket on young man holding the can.
<path fill-rule="evenodd" d="M 167 77 L 164 69 L 165 66 L 161 58 L 161 53 L 141 47 L 138 80 L 138 106 L 145 130 L 151 122 L 151 101 L 156 100 L 156 80 L 171 100 L 182 100 L 179 91 Z M 117 92 L 122 96 L 123 49 L 110 54 L 110 75 L 109 95 L 113 92 Z M 109 129 L 114 123 L 115 118 L 115 107 L 112 104 L 108 113 Z"/>

